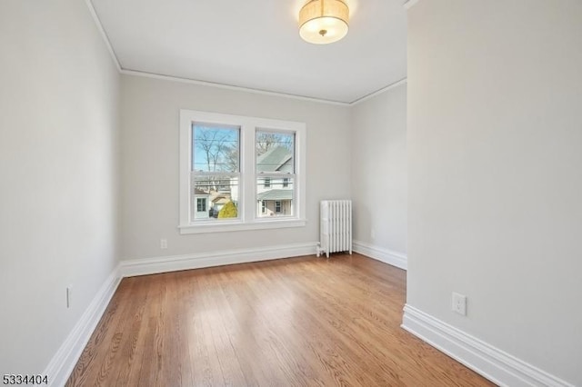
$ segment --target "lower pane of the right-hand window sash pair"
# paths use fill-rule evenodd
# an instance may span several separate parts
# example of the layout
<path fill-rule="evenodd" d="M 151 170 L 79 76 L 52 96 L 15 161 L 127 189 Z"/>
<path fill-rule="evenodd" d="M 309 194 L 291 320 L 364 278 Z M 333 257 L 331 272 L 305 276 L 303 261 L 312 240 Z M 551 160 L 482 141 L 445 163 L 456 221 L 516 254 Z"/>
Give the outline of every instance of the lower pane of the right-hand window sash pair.
<path fill-rule="evenodd" d="M 293 178 L 270 178 L 270 186 L 265 186 L 268 177 L 256 179 L 256 216 L 292 216 L 294 213 Z"/>

